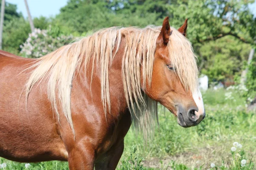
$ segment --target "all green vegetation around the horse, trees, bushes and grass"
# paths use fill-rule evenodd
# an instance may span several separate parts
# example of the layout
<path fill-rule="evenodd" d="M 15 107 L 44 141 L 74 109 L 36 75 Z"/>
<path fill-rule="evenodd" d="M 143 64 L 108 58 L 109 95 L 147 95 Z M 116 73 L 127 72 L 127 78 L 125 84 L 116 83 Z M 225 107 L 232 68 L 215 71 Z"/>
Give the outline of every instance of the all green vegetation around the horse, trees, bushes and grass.
<path fill-rule="evenodd" d="M 197 127 L 180 127 L 174 116 L 160 108 L 160 127 L 150 142 L 144 144 L 140 136 L 129 131 L 119 169 L 256 169 L 256 115 L 246 113 L 247 105 L 256 96 L 256 54 L 247 82 L 239 85 L 250 49 L 256 47 L 256 17 L 248 8 L 253 2 L 69 0 L 55 17 L 34 18 L 38 28 L 34 33 L 15 4 L 6 3 L 3 50 L 37 58 L 100 28 L 160 26 L 166 16 L 170 17 L 171 26 L 179 28 L 188 18 L 187 35 L 198 55 L 200 73 L 207 75 L 211 84 L 234 85 L 204 92 L 207 116 Z M 233 142 L 242 147 L 233 146 Z M 231 147 L 236 151 L 232 152 Z M 246 164 L 241 164 L 242 159 Z M 211 167 L 211 163 L 215 166 Z M 68 169 L 67 163 L 59 161 L 25 167 L 0 159 L 0 165 L 7 170 Z"/>

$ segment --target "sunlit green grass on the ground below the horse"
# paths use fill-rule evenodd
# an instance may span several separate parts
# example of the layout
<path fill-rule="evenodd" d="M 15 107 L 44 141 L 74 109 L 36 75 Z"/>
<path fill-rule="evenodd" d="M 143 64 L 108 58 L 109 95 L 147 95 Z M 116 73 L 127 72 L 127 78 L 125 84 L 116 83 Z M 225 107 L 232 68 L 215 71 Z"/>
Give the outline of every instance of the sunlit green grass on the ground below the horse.
<path fill-rule="evenodd" d="M 207 116 L 196 127 L 180 127 L 172 113 L 166 111 L 160 113 L 160 126 L 147 143 L 130 130 L 118 169 L 256 169 L 256 114 L 246 113 L 245 101 L 238 93 L 233 92 L 232 99 L 225 99 L 226 92 L 208 90 L 203 94 Z M 242 148 L 232 152 L 233 142 L 239 142 Z M 244 167 L 242 159 L 247 160 Z M 2 158 L 0 163 L 6 163 L 5 170 L 25 169 L 24 163 Z M 211 163 L 215 167 L 210 167 Z M 68 164 L 49 161 L 31 164 L 28 169 L 67 170 Z"/>

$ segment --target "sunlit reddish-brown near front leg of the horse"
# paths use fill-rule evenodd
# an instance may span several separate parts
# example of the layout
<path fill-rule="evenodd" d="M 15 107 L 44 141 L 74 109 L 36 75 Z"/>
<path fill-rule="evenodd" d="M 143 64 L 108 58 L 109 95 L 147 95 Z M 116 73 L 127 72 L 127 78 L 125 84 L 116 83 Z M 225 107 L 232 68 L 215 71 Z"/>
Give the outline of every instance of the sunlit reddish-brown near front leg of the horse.
<path fill-rule="evenodd" d="M 70 170 L 93 170 L 95 164 L 95 150 L 90 143 L 79 143 L 68 153 Z"/>

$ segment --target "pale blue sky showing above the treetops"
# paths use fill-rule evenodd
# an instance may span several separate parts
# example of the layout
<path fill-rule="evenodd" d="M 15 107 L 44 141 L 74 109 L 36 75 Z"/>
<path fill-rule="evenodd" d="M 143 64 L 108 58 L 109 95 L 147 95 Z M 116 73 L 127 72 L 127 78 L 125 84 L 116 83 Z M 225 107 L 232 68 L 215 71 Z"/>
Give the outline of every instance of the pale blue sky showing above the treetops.
<path fill-rule="evenodd" d="M 32 17 L 53 17 L 60 12 L 60 8 L 67 4 L 68 0 L 27 0 Z M 17 11 L 27 17 L 24 0 L 6 0 L 17 5 Z M 250 6 L 250 10 L 256 16 L 256 1 Z"/>

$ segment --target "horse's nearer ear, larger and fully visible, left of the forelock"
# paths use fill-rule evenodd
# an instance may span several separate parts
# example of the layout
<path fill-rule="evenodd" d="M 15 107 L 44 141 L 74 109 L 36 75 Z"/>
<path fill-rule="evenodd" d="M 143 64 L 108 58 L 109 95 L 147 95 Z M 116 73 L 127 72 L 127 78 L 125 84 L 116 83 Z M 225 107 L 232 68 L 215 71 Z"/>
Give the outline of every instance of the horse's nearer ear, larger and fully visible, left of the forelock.
<path fill-rule="evenodd" d="M 157 37 L 157 44 L 158 45 L 167 45 L 169 42 L 169 36 L 170 36 L 170 24 L 169 24 L 169 17 L 166 17 L 163 20 L 163 26 L 160 31 L 159 36 Z"/>

